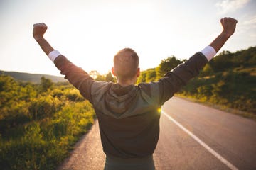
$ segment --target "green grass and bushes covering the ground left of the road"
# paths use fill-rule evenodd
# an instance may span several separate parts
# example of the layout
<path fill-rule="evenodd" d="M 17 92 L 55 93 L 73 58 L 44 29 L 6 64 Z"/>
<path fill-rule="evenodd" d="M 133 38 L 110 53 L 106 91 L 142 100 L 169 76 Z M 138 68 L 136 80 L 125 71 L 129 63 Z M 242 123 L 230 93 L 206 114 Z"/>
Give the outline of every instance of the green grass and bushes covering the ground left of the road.
<path fill-rule="evenodd" d="M 68 83 L 0 76 L 0 169 L 55 169 L 95 113 Z"/>

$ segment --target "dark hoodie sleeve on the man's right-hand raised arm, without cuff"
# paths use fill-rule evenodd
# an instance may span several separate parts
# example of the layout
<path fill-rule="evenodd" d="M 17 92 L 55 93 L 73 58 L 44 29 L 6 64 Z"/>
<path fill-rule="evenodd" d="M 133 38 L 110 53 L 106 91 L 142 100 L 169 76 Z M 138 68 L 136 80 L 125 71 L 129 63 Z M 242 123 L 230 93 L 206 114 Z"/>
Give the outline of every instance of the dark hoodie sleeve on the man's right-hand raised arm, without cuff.
<path fill-rule="evenodd" d="M 164 104 L 169 98 L 174 96 L 182 86 L 185 86 L 190 79 L 196 77 L 199 71 L 208 62 L 203 53 L 197 52 L 189 60 L 179 64 L 178 67 L 167 72 L 158 82 L 160 92 L 160 103 Z"/>

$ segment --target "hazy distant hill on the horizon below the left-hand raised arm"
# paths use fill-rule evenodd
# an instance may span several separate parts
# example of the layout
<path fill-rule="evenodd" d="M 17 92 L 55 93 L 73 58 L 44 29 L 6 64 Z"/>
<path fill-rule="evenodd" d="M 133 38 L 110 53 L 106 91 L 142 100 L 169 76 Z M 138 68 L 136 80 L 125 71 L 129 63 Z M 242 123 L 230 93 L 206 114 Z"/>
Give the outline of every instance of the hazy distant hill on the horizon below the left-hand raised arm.
<path fill-rule="evenodd" d="M 24 72 L 5 72 L 0 70 L 0 75 L 9 75 L 17 79 L 18 81 L 31 81 L 33 83 L 39 84 L 41 81 L 41 77 L 46 77 L 46 79 L 51 79 L 53 82 L 65 82 L 67 81 L 63 77 L 52 76 L 48 74 L 31 74 Z"/>

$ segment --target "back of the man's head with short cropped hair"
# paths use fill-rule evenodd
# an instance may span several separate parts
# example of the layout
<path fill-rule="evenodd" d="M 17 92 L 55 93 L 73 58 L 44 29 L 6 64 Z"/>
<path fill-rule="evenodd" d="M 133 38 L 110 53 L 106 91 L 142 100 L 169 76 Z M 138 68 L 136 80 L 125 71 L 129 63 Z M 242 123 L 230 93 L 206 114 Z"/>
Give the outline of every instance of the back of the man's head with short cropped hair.
<path fill-rule="evenodd" d="M 134 78 L 139 67 L 139 56 L 131 48 L 119 50 L 114 55 L 114 73 L 120 81 Z"/>

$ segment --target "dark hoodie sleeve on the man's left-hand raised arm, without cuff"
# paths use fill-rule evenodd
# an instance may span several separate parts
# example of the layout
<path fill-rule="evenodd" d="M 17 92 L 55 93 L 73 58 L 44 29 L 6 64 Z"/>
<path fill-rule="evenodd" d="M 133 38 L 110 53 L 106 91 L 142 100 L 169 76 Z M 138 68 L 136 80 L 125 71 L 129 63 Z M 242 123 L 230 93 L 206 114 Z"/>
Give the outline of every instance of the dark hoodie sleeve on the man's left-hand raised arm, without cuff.
<path fill-rule="evenodd" d="M 80 67 L 75 66 L 63 55 L 59 55 L 54 60 L 55 66 L 60 70 L 60 73 L 65 75 L 70 84 L 73 84 L 80 94 L 89 101 L 91 100 L 90 89 L 92 83 L 95 81 Z"/>

